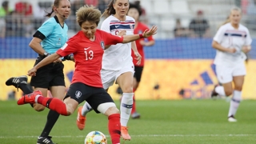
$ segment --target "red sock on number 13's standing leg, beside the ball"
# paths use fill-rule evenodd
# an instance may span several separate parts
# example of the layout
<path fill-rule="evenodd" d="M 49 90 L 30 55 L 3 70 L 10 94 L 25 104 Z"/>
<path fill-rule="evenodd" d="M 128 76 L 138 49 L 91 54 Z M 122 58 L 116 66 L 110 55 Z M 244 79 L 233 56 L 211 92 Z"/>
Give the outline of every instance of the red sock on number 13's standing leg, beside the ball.
<path fill-rule="evenodd" d="M 113 144 L 120 143 L 121 124 L 120 114 L 111 114 L 109 116 L 109 133 Z"/>

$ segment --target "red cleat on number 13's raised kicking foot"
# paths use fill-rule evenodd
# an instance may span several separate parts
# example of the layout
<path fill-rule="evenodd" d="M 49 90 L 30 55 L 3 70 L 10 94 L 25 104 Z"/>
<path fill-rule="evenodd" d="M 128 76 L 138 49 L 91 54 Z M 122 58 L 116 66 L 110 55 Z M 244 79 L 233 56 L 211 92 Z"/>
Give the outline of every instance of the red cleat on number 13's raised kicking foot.
<path fill-rule="evenodd" d="M 18 105 L 24 105 L 26 103 L 35 103 L 35 97 L 37 95 L 42 96 L 42 92 L 40 90 L 36 90 L 31 94 L 25 94 L 24 96 L 22 96 L 22 98 L 18 99 L 17 104 Z"/>

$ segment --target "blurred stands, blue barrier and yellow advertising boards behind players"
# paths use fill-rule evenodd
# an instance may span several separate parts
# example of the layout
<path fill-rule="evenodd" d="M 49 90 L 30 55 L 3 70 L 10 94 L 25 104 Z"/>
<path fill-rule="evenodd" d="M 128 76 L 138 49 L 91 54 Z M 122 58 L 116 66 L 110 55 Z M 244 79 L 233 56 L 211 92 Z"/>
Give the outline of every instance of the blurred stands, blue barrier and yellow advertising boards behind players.
<path fill-rule="evenodd" d="M 22 92 L 6 86 L 7 78 L 26 74 L 34 66 L 37 54 L 28 46 L 32 35 L 46 21 L 45 10 L 53 0 L 0 0 L 0 100 L 19 98 Z M 75 11 L 85 4 L 102 12 L 110 0 L 70 0 L 72 14 L 66 20 L 69 37 L 79 30 Z M 130 0 L 135 2 L 135 0 Z M 210 98 L 218 84 L 211 47 L 218 27 L 226 21 L 230 9 L 242 9 L 242 24 L 254 39 L 246 61 L 247 75 L 242 97 L 255 99 L 256 94 L 256 0 L 140 0 L 141 21 L 158 26 L 156 44 L 145 47 L 146 64 L 138 99 Z M 66 87 L 70 86 L 74 62 L 64 62 Z M 117 86 L 110 94 L 118 99 Z"/>

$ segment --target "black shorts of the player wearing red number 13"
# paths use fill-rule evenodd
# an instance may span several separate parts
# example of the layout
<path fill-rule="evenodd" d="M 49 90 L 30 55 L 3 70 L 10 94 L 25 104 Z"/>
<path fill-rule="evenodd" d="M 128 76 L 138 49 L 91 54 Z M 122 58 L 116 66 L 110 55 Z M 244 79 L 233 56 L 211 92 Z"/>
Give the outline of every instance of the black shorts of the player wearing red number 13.
<path fill-rule="evenodd" d="M 100 113 L 97 110 L 100 104 L 114 102 L 110 94 L 102 87 L 88 86 L 82 82 L 75 82 L 70 85 L 65 98 L 68 97 L 76 100 L 79 104 L 84 101 L 88 102 L 96 113 Z"/>

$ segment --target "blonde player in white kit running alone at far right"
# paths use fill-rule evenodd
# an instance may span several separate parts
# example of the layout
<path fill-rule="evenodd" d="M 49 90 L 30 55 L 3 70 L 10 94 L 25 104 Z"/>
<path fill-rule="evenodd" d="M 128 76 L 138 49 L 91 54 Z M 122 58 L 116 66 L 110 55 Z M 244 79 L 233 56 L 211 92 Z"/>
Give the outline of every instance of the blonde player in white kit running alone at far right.
<path fill-rule="evenodd" d="M 217 50 L 214 59 L 216 73 L 218 81 L 222 83 L 222 86 L 214 88 L 212 96 L 230 96 L 233 94 L 228 113 L 229 122 L 237 122 L 234 115 L 242 100 L 242 85 L 246 75 L 244 62 L 252 42 L 249 30 L 240 24 L 240 20 L 241 10 L 239 8 L 230 10 L 230 22 L 218 29 L 212 43 L 214 49 Z M 234 88 L 232 82 L 234 82 Z"/>

